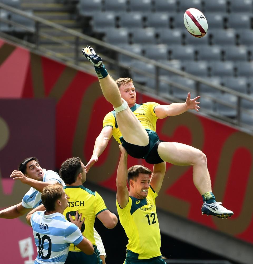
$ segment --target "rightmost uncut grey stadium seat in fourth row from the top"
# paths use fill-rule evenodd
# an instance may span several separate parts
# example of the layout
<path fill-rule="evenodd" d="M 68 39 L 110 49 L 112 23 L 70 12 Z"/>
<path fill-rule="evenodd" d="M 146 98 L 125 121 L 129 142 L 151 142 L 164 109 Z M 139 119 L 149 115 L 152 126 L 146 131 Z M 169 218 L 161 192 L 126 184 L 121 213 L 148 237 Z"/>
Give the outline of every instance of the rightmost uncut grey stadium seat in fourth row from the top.
<path fill-rule="evenodd" d="M 248 60 L 248 51 L 245 46 L 227 45 L 224 47 L 225 60 Z"/>

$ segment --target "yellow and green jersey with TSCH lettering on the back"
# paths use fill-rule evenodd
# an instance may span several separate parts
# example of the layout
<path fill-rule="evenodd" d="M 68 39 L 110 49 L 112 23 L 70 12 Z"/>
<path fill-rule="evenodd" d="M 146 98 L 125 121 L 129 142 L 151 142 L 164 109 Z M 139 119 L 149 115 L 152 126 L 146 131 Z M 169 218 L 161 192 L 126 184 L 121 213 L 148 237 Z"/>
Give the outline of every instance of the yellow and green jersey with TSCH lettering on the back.
<path fill-rule="evenodd" d="M 75 216 L 76 211 L 78 211 L 79 214 L 82 213 L 82 218 L 85 217 L 85 220 L 81 232 L 93 245 L 96 245 L 93 232 L 95 217 L 102 211 L 108 210 L 103 198 L 98 192 L 93 192 L 82 185 L 65 186 L 64 189 L 70 199 L 68 201 L 68 207 L 64 210 L 63 215 L 70 221 L 68 214 Z M 81 251 L 74 244 L 70 244 L 69 250 Z"/>

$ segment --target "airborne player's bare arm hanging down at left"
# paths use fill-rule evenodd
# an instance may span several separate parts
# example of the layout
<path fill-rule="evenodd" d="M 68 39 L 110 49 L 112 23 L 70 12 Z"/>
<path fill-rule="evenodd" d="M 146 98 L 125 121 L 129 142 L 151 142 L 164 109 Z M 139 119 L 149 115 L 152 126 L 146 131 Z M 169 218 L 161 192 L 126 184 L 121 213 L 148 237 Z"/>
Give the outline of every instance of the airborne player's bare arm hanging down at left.
<path fill-rule="evenodd" d="M 91 156 L 91 159 L 85 166 L 86 172 L 88 172 L 89 169 L 94 165 L 94 163 L 98 161 L 98 157 L 104 152 L 111 137 L 112 137 L 112 127 L 105 126 L 101 130 L 98 137 L 96 138 L 94 149 L 93 149 L 93 154 Z"/>

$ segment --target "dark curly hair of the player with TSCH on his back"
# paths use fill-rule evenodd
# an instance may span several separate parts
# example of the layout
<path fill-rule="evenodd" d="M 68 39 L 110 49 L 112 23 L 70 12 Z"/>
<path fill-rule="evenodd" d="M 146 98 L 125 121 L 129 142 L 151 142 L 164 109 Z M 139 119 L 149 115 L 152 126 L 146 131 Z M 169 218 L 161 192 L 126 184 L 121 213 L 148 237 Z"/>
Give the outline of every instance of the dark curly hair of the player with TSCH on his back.
<path fill-rule="evenodd" d="M 59 175 L 66 184 L 72 184 L 81 172 L 83 172 L 81 159 L 74 157 L 62 163 Z"/>

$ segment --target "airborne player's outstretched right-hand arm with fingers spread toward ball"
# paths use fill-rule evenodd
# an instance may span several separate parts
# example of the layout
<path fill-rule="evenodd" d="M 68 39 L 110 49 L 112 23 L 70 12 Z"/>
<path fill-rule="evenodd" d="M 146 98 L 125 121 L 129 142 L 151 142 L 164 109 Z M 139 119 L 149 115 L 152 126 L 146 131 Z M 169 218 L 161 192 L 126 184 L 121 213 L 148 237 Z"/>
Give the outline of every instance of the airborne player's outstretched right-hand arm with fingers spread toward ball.
<path fill-rule="evenodd" d="M 191 99 L 191 94 L 188 93 L 185 103 L 171 103 L 170 105 L 158 105 L 155 107 L 155 114 L 158 118 L 162 119 L 167 116 L 176 116 L 183 114 L 189 109 L 199 112 L 200 107 L 198 106 L 200 102 L 197 100 L 200 96 Z"/>

